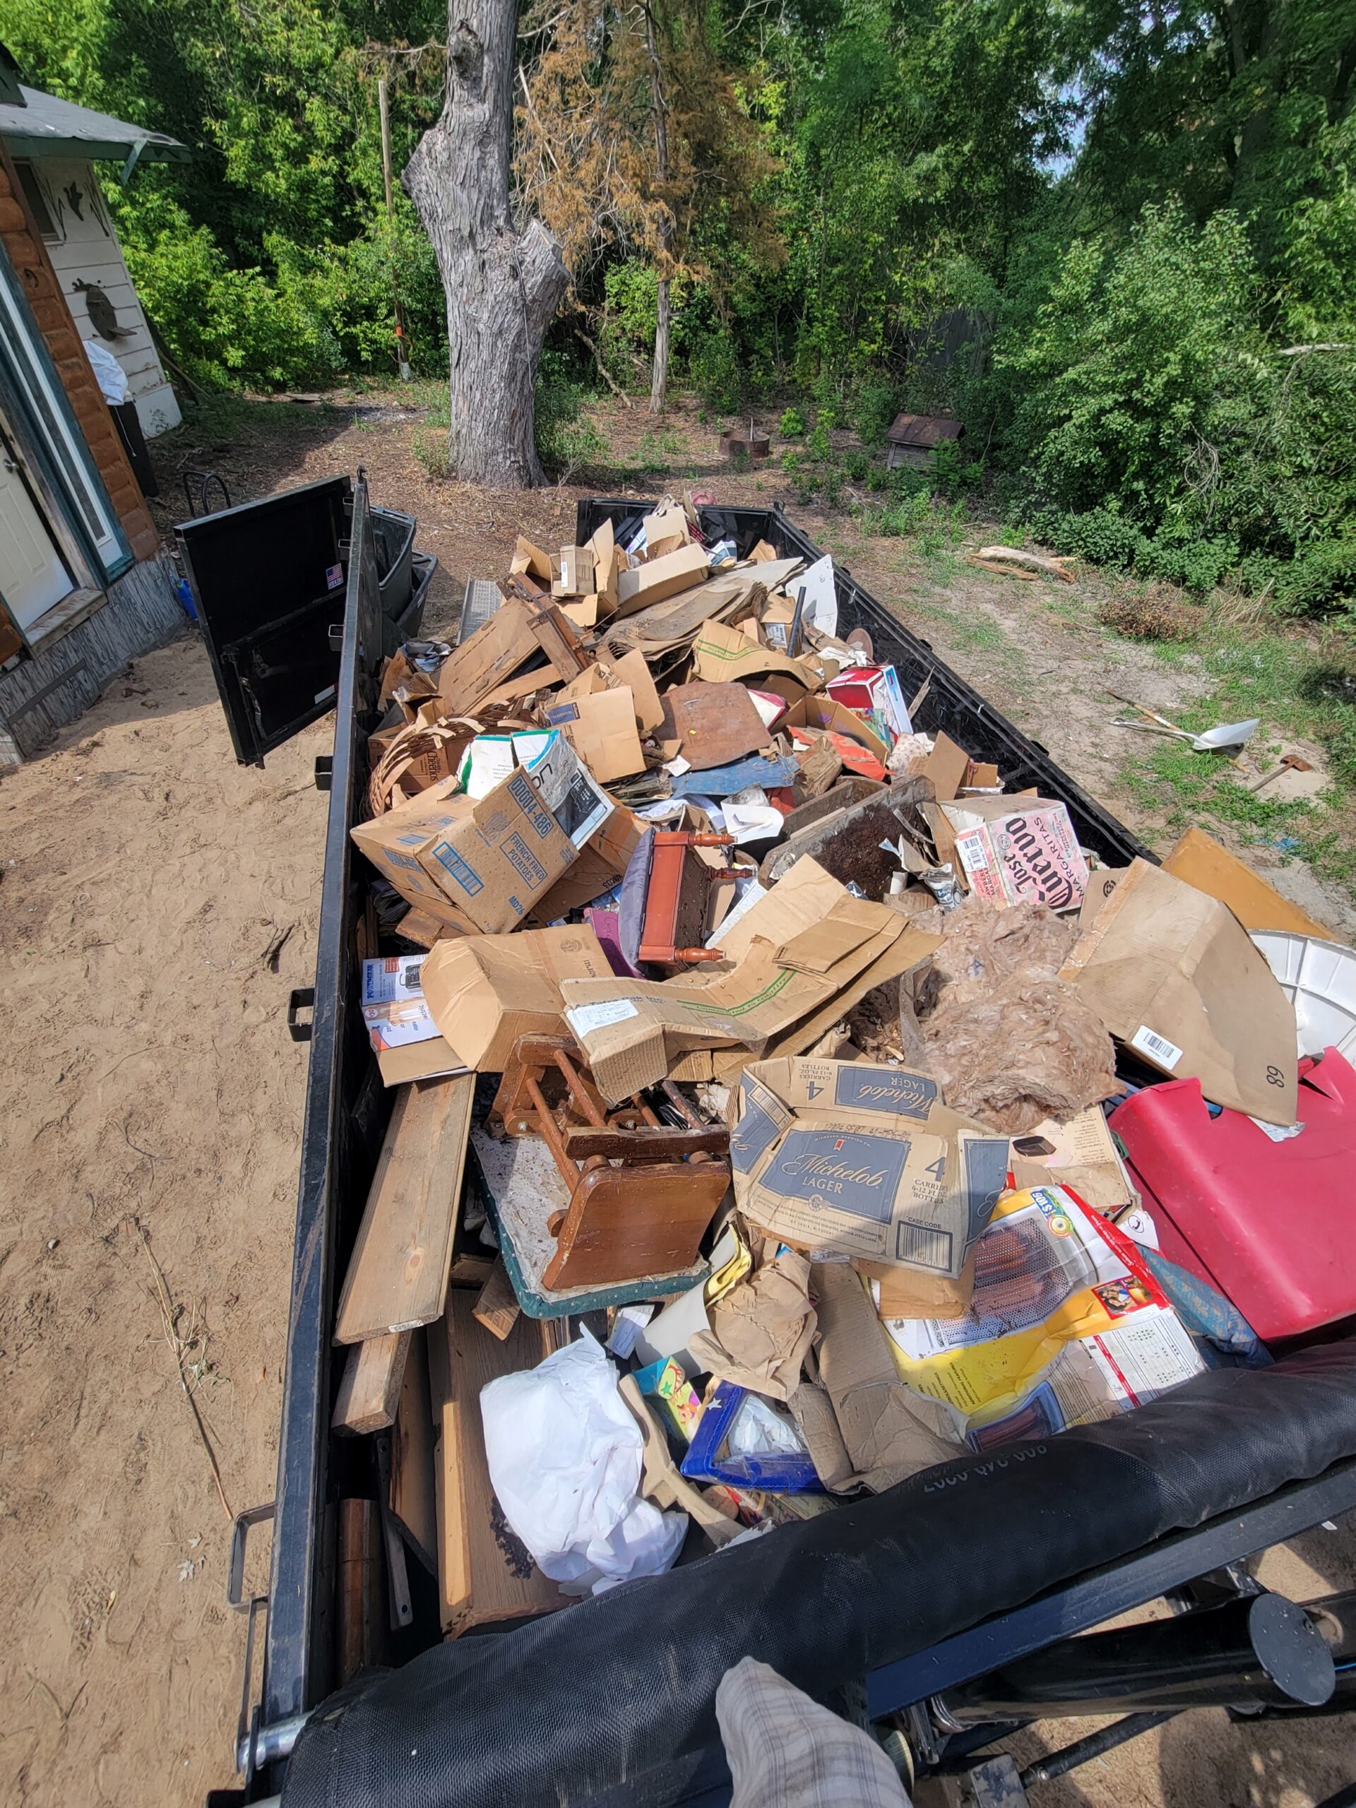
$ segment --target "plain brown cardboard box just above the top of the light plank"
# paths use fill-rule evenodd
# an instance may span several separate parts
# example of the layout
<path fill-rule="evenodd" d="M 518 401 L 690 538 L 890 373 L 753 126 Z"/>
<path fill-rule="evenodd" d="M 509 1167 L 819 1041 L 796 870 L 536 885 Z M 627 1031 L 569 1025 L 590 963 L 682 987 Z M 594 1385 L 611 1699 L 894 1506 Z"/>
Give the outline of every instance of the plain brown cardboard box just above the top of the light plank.
<path fill-rule="evenodd" d="M 597 935 L 580 926 L 468 935 L 423 958 L 423 998 L 465 1067 L 501 1074 L 519 1036 L 562 1036 L 560 980 L 611 975 Z"/>

